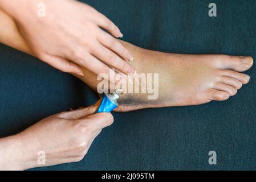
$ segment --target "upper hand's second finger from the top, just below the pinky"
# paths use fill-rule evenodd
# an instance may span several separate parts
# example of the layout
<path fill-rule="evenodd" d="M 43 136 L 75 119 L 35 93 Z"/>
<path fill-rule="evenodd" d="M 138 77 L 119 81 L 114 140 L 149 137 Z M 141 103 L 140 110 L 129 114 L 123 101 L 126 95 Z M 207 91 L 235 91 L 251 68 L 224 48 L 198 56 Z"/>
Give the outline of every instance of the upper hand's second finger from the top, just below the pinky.
<path fill-rule="evenodd" d="M 119 41 L 118 39 L 113 38 L 111 35 L 106 34 L 103 30 L 99 30 L 98 33 L 99 36 L 99 42 L 103 44 L 105 47 L 111 49 L 113 52 L 115 52 L 117 55 L 119 55 L 121 58 L 127 61 L 132 61 L 133 56 L 132 53 L 129 52 Z"/>

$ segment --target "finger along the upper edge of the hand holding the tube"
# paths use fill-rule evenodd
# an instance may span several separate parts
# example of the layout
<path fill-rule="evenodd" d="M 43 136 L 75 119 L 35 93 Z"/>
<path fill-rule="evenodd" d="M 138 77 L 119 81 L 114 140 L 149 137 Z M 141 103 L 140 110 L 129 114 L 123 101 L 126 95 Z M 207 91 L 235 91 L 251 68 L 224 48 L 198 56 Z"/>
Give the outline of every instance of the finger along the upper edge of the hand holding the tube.
<path fill-rule="evenodd" d="M 87 117 L 87 115 L 94 114 L 96 110 L 97 110 L 97 105 L 92 105 L 92 106 L 84 107 L 83 109 L 60 113 L 58 117 L 64 118 L 64 119 L 79 119 L 79 118 Z"/>

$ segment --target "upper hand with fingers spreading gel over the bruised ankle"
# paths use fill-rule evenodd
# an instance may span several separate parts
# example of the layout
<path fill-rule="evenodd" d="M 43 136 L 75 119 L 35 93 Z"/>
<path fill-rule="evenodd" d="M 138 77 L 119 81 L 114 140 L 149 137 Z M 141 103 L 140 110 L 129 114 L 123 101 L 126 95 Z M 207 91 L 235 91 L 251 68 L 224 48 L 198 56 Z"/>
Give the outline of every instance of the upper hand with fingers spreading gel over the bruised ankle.
<path fill-rule="evenodd" d="M 45 17 L 37 15 L 39 2 L 46 5 Z M 0 7 L 13 16 L 35 55 L 60 71 L 83 75 L 81 65 L 109 77 L 115 73 L 109 67 L 134 72 L 124 61 L 133 59 L 131 53 L 116 39 L 122 36 L 119 28 L 91 6 L 74 0 L 1 0 Z M 116 75 L 116 83 L 120 78 Z"/>

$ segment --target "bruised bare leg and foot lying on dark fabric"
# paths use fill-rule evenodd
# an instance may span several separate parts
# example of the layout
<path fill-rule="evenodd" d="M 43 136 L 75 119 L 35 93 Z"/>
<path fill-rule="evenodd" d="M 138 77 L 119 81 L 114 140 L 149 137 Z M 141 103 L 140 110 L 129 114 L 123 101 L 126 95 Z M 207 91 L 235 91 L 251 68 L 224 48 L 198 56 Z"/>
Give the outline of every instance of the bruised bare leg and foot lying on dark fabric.
<path fill-rule="evenodd" d="M 3 18 L 6 18 L 6 15 L 0 17 Z M 13 31 L 9 31 L 11 35 L 6 36 L 8 40 L 3 43 L 32 55 L 12 20 L 0 22 L 6 23 L 1 24 L 1 27 L 13 28 Z M 13 40 L 17 39 L 19 41 L 14 44 Z M 133 53 L 135 60 L 130 64 L 138 73 L 159 73 L 159 97 L 157 100 L 148 100 L 148 94 L 123 94 L 116 111 L 198 105 L 213 100 L 227 100 L 237 93 L 242 84 L 249 82 L 249 76 L 239 72 L 246 71 L 253 65 L 252 57 L 180 55 L 149 51 L 129 43 L 121 43 Z M 84 68 L 83 72 L 86 76 L 76 76 L 96 90 L 96 75 Z"/>

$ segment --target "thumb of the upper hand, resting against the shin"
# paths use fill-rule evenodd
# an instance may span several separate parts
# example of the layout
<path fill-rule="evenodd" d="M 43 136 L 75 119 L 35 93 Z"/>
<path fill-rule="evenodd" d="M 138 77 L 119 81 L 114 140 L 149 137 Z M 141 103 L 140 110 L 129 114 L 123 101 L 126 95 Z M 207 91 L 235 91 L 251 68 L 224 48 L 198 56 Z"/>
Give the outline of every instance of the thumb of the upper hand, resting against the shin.
<path fill-rule="evenodd" d="M 77 75 L 84 76 L 83 71 L 79 67 L 79 65 L 76 65 L 75 63 L 72 63 L 67 59 L 63 59 L 57 56 L 43 55 L 42 60 L 50 64 L 52 67 L 59 69 L 60 71 L 67 73 L 75 73 Z"/>

